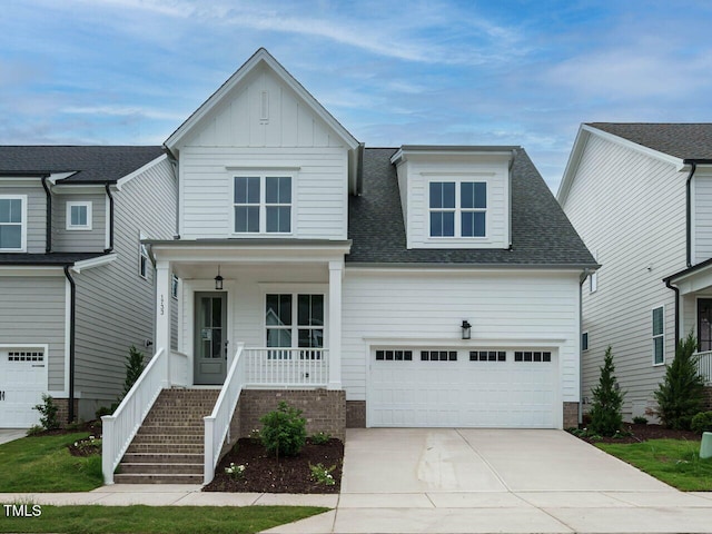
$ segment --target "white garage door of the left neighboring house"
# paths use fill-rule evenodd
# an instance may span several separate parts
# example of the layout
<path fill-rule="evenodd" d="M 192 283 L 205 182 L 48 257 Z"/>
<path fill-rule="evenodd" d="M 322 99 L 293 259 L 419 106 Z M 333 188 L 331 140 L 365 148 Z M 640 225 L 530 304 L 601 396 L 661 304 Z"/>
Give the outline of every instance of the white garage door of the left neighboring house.
<path fill-rule="evenodd" d="M 0 428 L 29 428 L 39 424 L 33 406 L 47 392 L 44 348 L 0 347 Z"/>

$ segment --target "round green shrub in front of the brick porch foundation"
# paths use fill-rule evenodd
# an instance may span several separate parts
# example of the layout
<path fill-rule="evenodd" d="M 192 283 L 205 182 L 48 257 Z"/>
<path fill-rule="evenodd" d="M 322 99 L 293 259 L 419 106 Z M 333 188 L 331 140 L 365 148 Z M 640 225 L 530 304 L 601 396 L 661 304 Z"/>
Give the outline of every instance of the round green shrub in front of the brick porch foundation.
<path fill-rule="evenodd" d="M 284 400 L 277 409 L 269 412 L 261 419 L 260 438 L 269 454 L 296 456 L 307 441 L 306 419 L 301 411 L 289 406 Z"/>

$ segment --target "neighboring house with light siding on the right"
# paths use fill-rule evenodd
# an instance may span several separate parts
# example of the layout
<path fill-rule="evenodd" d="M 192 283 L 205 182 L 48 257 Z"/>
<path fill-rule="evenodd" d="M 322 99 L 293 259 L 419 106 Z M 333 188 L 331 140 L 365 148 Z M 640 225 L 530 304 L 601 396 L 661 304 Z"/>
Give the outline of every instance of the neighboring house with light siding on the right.
<path fill-rule="evenodd" d="M 601 269 L 583 291 L 584 409 L 611 346 L 624 416 L 692 332 L 712 378 L 712 125 L 585 123 L 557 198 Z"/>

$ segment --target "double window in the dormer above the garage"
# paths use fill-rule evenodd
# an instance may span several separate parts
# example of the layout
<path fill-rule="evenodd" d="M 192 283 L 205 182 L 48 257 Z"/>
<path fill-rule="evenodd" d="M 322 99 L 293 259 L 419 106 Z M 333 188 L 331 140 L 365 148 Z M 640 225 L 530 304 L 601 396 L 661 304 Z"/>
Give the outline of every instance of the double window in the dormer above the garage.
<path fill-rule="evenodd" d="M 428 184 L 429 237 L 486 237 L 487 182 L 438 180 Z"/>

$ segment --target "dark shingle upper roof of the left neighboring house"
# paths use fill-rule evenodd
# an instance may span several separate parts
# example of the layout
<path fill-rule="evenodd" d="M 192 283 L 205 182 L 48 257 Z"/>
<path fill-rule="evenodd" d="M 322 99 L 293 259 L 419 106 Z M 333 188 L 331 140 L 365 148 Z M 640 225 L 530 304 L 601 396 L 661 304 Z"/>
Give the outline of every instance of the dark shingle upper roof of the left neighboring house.
<path fill-rule="evenodd" d="M 61 184 L 116 182 L 162 154 L 158 146 L 0 146 L 0 175 L 75 171 Z"/>

